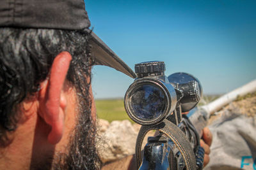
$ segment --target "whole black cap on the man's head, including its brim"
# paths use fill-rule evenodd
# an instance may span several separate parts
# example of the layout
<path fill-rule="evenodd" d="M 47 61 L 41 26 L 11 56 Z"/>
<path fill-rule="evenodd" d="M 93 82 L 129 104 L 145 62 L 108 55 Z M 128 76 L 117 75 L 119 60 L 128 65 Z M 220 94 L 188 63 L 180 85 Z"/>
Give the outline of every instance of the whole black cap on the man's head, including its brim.
<path fill-rule="evenodd" d="M 0 27 L 66 29 L 91 32 L 95 65 L 113 67 L 136 78 L 136 74 L 90 27 L 83 0 L 1 0 Z"/>

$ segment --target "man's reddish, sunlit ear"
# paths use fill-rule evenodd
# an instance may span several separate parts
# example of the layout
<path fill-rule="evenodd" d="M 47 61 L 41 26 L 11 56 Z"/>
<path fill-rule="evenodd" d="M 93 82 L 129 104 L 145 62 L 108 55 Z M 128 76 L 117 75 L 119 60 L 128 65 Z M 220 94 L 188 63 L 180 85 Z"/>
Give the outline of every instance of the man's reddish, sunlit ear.
<path fill-rule="evenodd" d="M 64 130 L 64 117 L 67 100 L 63 94 L 63 85 L 72 57 L 68 52 L 59 53 L 52 62 L 49 78 L 41 84 L 38 99 L 39 115 L 51 126 L 47 140 L 52 145 L 60 141 Z"/>

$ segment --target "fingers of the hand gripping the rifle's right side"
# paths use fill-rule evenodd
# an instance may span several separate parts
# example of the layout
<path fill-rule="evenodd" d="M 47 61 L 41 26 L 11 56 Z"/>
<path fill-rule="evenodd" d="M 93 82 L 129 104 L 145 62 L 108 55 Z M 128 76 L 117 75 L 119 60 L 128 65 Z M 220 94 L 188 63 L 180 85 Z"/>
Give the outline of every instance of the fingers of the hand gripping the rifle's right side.
<path fill-rule="evenodd" d="M 200 145 L 204 148 L 204 167 L 209 163 L 210 157 L 209 154 L 211 152 L 210 146 L 212 144 L 212 133 L 208 127 L 203 129 L 202 139 L 200 139 Z"/>

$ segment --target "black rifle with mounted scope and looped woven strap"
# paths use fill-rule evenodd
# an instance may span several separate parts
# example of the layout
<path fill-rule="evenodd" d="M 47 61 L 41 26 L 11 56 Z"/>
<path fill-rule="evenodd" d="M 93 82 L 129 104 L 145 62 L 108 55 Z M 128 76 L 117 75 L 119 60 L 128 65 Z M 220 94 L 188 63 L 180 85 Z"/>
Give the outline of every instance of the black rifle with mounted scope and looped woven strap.
<path fill-rule="evenodd" d="M 138 78 L 125 94 L 125 111 L 142 125 L 136 141 L 137 167 L 202 169 L 204 148 L 200 146 L 200 131 L 206 125 L 207 113 L 194 110 L 188 116 L 182 115 L 198 104 L 202 86 L 190 74 L 175 73 L 167 78 L 164 71 L 164 62 L 136 64 Z M 193 124 L 198 124 L 197 128 Z M 151 130 L 159 134 L 148 138 L 142 159 L 142 141 Z"/>

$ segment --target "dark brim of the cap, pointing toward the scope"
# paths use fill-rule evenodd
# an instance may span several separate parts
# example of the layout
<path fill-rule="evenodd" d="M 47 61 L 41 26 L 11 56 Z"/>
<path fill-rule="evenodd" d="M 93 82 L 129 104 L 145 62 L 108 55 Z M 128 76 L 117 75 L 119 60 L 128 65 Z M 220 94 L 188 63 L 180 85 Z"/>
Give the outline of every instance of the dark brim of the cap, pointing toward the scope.
<path fill-rule="evenodd" d="M 109 47 L 106 45 L 94 32 L 91 31 L 89 39 L 92 45 L 92 57 L 94 65 L 109 66 L 118 71 L 121 71 L 131 78 L 136 78 L 136 74 L 132 69 L 125 64 Z"/>

